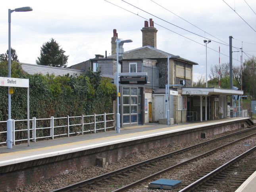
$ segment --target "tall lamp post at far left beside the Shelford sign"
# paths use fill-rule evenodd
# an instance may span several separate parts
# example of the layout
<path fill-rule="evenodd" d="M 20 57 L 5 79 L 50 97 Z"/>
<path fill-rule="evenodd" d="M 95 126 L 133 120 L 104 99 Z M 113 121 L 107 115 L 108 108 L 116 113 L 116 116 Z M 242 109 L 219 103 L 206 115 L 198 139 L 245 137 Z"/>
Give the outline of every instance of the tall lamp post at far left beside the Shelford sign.
<path fill-rule="evenodd" d="M 12 12 L 30 12 L 33 11 L 31 7 L 21 7 L 14 10 L 8 9 L 8 77 L 11 77 L 11 13 Z M 10 87 L 9 87 L 10 88 Z M 12 118 L 11 118 L 11 94 L 8 90 L 8 120 L 7 120 L 7 148 L 12 149 Z"/>

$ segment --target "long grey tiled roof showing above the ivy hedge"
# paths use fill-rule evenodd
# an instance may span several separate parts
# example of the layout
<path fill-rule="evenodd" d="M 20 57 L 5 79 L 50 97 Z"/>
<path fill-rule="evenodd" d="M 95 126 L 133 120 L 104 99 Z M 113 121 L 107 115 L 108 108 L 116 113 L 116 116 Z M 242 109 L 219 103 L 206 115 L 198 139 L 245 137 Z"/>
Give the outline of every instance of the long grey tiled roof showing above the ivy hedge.
<path fill-rule="evenodd" d="M 50 66 L 44 66 L 44 65 L 36 65 L 36 64 L 29 64 L 29 63 L 21 63 L 22 70 L 25 73 L 28 73 L 30 75 L 33 75 L 35 73 L 42 73 L 42 75 L 54 74 L 55 76 L 62 76 L 69 73 L 69 75 L 74 74 L 81 74 L 84 73 L 84 71 L 81 70 L 75 70 L 75 69 L 67 69 L 62 67 L 50 67 Z"/>

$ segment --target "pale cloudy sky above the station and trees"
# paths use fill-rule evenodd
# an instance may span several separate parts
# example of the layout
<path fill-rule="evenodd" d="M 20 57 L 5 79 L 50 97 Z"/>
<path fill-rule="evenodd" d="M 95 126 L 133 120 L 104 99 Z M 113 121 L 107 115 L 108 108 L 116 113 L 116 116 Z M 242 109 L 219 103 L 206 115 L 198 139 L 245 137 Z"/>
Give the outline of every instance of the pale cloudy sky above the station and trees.
<path fill-rule="evenodd" d="M 11 14 L 11 46 L 23 63 L 35 64 L 41 46 L 54 38 L 69 55 L 67 66 L 111 53 L 113 29 L 131 39 L 124 50 L 142 47 L 144 21 L 154 21 L 157 48 L 198 63 L 194 81 L 210 67 L 233 66 L 256 56 L 255 0 L 9 0 L 0 6 L 0 54 L 8 50 L 8 9 L 30 6 L 32 12 Z M 211 40 L 206 46 L 204 40 Z M 242 48 L 242 49 L 241 49 Z M 220 52 L 219 52 L 220 50 Z M 241 52 L 243 50 L 243 54 Z M 207 65 L 206 65 L 207 58 Z"/>

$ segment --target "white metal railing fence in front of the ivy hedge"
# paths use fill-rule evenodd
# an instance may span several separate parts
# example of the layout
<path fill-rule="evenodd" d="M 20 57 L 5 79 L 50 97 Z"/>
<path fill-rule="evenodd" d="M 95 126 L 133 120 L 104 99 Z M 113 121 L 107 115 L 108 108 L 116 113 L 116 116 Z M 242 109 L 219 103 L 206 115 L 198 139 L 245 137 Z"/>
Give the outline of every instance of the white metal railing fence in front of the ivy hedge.
<path fill-rule="evenodd" d="M 99 115 L 82 115 L 75 117 L 50 117 L 46 119 L 37 119 L 33 117 L 29 119 L 29 135 L 27 134 L 27 119 L 15 120 L 12 119 L 13 130 L 12 138 L 13 145 L 16 142 L 32 140 L 42 140 L 63 136 L 72 136 L 85 133 L 96 133 L 97 131 L 106 131 L 107 129 L 115 128 L 115 113 L 104 113 Z M 32 125 L 32 126 L 31 126 Z M 7 121 L 0 121 L 0 144 L 6 144 L 7 138 Z"/>

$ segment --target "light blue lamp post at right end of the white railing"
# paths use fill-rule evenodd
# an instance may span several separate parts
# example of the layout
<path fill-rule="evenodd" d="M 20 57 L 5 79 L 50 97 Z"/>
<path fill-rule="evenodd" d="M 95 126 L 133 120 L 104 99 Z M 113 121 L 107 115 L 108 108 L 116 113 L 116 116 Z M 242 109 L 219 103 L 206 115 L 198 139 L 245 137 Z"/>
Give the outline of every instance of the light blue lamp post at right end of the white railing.
<path fill-rule="evenodd" d="M 119 66 L 118 66 L 118 63 L 119 63 L 119 46 L 121 46 L 120 49 L 121 52 L 123 52 L 123 44 L 124 43 L 129 43 L 129 42 L 133 42 L 131 39 L 128 39 L 128 40 L 122 40 L 121 38 L 117 38 L 115 40 L 116 42 L 116 80 L 117 80 L 117 113 L 116 113 L 116 132 L 117 133 L 120 133 L 120 113 L 119 113 L 119 96 L 120 96 L 120 93 L 119 93 Z"/>

